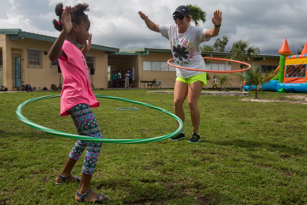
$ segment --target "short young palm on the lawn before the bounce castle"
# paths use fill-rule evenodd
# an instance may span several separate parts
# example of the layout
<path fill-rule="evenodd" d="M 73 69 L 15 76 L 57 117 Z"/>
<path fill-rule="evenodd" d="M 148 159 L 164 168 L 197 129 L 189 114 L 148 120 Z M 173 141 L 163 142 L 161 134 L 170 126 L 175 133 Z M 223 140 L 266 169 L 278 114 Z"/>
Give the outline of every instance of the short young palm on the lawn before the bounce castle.
<path fill-rule="evenodd" d="M 257 63 L 253 63 L 251 68 L 246 71 L 246 76 L 241 73 L 233 73 L 232 76 L 246 79 L 255 88 L 255 99 L 258 99 L 258 91 L 262 90 L 262 87 L 266 87 L 270 83 L 272 75 L 277 74 L 276 70 L 269 70 L 264 75 L 262 75 L 261 66 Z"/>

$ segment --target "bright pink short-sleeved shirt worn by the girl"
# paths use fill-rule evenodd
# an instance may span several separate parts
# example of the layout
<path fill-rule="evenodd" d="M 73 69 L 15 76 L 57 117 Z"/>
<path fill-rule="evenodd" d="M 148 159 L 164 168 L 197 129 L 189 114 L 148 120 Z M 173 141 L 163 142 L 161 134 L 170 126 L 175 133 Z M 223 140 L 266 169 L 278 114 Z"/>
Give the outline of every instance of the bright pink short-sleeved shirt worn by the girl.
<path fill-rule="evenodd" d="M 68 110 L 80 103 L 88 104 L 91 108 L 99 107 L 100 103 L 91 90 L 90 75 L 84 55 L 79 48 L 66 40 L 62 50 L 66 56 L 59 58 L 64 77 L 60 116 L 69 115 Z"/>

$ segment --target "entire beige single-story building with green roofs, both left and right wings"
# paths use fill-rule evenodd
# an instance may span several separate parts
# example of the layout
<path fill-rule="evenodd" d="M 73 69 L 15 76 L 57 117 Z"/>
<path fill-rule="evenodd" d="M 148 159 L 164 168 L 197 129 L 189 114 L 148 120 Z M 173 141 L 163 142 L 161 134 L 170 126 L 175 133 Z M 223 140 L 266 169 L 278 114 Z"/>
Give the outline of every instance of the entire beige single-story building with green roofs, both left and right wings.
<path fill-rule="evenodd" d="M 40 34 L 33 34 L 21 31 L 20 29 L 0 29 L 0 86 L 3 85 L 9 91 L 17 90 L 20 85 L 29 84 L 32 87 L 46 87 L 51 85 L 60 86 L 63 83 L 63 76 L 58 68 L 58 61 L 50 61 L 49 50 L 56 40 Z M 80 49 L 83 46 L 79 46 Z M 232 53 L 202 52 L 203 57 L 225 58 Z M 110 74 L 120 71 L 122 76 L 125 71 L 132 70 L 133 87 L 143 87 L 146 84 L 141 81 L 161 80 L 161 88 L 173 88 L 176 79 L 176 68 L 167 64 L 173 58 L 171 49 L 136 48 L 122 49 L 92 44 L 91 50 L 87 53 L 86 61 L 91 69 L 91 86 L 94 89 L 107 88 L 110 86 Z M 249 64 L 256 61 L 262 66 L 262 71 L 276 69 L 279 65 L 279 55 L 260 55 L 255 59 L 251 58 Z M 171 61 L 174 64 L 173 61 Z M 108 67 L 110 69 L 108 73 Z M 238 70 L 238 63 L 227 65 L 226 61 L 211 60 L 206 65 L 206 70 L 229 71 Z M 213 81 L 212 73 L 209 75 Z M 231 81 L 232 87 L 239 87 L 239 79 Z"/>

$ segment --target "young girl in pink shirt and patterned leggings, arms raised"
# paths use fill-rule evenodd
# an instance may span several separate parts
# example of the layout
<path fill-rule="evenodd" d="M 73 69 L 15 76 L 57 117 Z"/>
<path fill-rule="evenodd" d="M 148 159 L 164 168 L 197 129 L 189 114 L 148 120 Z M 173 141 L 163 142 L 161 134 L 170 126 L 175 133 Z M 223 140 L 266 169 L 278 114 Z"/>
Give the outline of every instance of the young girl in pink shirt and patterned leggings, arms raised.
<path fill-rule="evenodd" d="M 86 3 L 79 3 L 73 8 L 66 6 L 65 10 L 62 3 L 56 5 L 55 12 L 59 16 L 59 21 L 53 19 L 53 25 L 61 33 L 50 49 L 49 59 L 51 61 L 59 59 L 64 77 L 60 116 L 70 115 L 79 135 L 103 138 L 91 110 L 91 108 L 98 107 L 100 103 L 96 101 L 91 90 L 85 61 L 86 53 L 91 49 L 92 37 L 88 32 L 90 21 L 87 14 L 84 13 L 88 10 Z M 77 47 L 78 44 L 84 45 L 81 51 Z M 69 153 L 63 170 L 56 178 L 56 184 L 80 182 L 75 195 L 76 202 L 101 203 L 110 200 L 109 197 L 90 189 L 101 146 L 102 143 L 78 140 Z M 71 176 L 72 168 L 86 148 L 81 178 Z"/>

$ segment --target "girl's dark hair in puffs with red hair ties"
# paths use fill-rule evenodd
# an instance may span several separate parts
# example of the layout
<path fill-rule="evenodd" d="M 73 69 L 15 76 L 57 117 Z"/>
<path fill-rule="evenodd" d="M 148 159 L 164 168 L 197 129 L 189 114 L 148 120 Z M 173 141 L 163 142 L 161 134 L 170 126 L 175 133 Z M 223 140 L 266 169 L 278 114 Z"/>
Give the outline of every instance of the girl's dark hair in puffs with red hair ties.
<path fill-rule="evenodd" d="M 72 17 L 72 22 L 76 23 L 77 25 L 80 24 L 81 20 L 87 20 L 88 16 L 84 13 L 84 11 L 89 11 L 87 3 L 78 3 L 74 7 L 72 7 L 72 10 L 70 12 L 70 16 Z M 56 15 L 59 17 L 59 21 L 56 19 L 52 20 L 53 26 L 56 30 L 62 31 L 62 13 L 64 11 L 63 9 L 63 3 L 58 3 L 54 9 Z"/>

